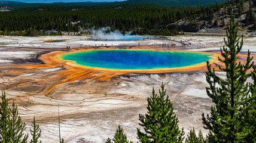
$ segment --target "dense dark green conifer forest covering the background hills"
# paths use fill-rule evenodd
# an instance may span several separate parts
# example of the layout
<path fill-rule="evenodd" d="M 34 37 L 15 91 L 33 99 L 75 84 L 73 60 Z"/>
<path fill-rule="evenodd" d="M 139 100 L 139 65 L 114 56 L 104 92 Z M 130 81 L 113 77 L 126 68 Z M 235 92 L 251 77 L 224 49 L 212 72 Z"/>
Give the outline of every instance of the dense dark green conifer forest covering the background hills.
<path fill-rule="evenodd" d="M 243 1 L 243 0 L 240 0 Z M 240 1 L 231 1 L 238 3 Z M 111 27 L 141 35 L 177 35 L 167 25 L 194 15 L 205 20 L 231 2 L 198 7 L 164 7 L 153 4 L 118 4 L 97 6 L 40 6 L 0 13 L 1 35 L 44 35 L 45 30 L 80 32 L 84 29 Z"/>

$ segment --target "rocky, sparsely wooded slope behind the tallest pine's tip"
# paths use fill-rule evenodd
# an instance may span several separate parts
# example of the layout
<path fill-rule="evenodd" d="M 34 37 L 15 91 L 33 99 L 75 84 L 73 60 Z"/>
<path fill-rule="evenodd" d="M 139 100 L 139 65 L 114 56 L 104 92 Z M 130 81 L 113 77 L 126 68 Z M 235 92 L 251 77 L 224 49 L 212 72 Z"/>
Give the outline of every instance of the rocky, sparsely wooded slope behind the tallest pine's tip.
<path fill-rule="evenodd" d="M 243 5 L 241 7 L 241 5 Z M 176 29 L 184 32 L 198 32 L 198 33 L 225 33 L 226 24 L 229 23 L 230 8 L 233 8 L 234 21 L 237 21 L 239 33 L 246 34 L 256 30 L 256 0 L 251 2 L 244 2 L 243 4 L 230 4 L 221 7 L 220 10 L 206 12 L 206 17 L 203 13 L 195 14 L 190 18 L 184 18 L 175 23 L 169 24 L 168 29 Z M 211 14 L 212 13 L 212 14 Z M 207 16 L 208 15 L 208 16 Z"/>

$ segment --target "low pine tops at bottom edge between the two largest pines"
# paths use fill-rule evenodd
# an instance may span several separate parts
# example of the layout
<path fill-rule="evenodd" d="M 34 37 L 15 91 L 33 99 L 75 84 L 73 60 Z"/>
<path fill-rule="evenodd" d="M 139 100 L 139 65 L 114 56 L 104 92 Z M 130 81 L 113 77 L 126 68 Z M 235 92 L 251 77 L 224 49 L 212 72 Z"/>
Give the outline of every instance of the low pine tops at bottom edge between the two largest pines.
<path fill-rule="evenodd" d="M 204 142 L 207 142 L 207 140 L 203 138 L 202 131 L 200 130 L 197 136 L 194 128 L 190 130 L 185 141 L 185 143 L 204 143 Z"/>

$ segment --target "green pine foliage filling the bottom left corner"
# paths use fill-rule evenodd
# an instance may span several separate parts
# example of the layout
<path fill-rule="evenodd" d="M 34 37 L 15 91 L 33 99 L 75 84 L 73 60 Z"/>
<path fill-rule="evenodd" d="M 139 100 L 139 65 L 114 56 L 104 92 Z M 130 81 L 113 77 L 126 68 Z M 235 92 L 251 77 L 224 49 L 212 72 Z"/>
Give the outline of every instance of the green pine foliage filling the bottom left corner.
<path fill-rule="evenodd" d="M 5 92 L 2 92 L 2 102 L 0 102 L 0 141 L 4 143 L 25 143 L 28 135 L 24 135 L 26 124 L 22 123 L 21 117 L 17 109 L 17 105 L 13 104 L 8 107 L 8 99 Z"/>

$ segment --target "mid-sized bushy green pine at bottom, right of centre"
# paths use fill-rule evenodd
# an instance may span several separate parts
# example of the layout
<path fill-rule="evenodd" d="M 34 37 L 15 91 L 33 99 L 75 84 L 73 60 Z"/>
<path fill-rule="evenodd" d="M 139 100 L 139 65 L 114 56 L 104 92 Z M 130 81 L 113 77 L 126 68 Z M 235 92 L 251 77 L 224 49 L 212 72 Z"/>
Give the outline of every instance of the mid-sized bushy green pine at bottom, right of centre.
<path fill-rule="evenodd" d="M 172 102 L 166 96 L 166 90 L 162 83 L 159 95 L 155 94 L 147 99 L 148 113 L 139 114 L 139 120 L 144 132 L 137 129 L 138 139 L 144 142 L 182 142 L 184 131 L 179 130 L 178 118 L 173 111 Z"/>

